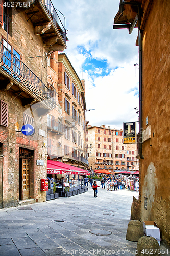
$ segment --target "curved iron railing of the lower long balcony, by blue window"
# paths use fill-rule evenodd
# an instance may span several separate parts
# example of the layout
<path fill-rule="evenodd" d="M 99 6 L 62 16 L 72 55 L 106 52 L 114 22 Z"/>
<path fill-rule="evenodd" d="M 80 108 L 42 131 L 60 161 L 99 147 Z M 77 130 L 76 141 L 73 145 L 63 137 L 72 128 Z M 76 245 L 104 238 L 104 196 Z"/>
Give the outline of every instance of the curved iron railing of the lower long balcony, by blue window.
<path fill-rule="evenodd" d="M 52 85 L 50 85 L 49 88 L 45 86 L 45 84 L 18 58 L 19 56 L 13 54 L 11 49 L 7 47 L 0 43 L 0 67 L 34 93 L 45 104 L 51 108 L 55 108 L 55 88 Z"/>

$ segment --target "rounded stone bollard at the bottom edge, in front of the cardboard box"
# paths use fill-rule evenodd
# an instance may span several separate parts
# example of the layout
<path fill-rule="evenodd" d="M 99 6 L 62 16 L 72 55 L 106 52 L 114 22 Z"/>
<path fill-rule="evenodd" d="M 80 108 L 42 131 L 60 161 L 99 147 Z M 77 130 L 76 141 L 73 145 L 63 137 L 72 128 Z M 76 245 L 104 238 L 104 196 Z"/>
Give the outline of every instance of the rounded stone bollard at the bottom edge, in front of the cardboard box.
<path fill-rule="evenodd" d="M 139 238 L 136 248 L 136 256 L 160 256 L 158 241 L 153 237 L 144 236 Z M 159 250 L 158 250 L 159 249 Z"/>

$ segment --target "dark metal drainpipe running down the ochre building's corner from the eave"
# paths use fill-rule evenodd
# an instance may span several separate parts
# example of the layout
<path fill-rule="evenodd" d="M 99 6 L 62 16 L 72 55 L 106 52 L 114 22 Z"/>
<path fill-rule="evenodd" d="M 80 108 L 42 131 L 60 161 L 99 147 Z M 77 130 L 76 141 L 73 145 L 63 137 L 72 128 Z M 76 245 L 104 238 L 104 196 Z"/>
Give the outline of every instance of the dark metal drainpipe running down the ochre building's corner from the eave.
<path fill-rule="evenodd" d="M 144 159 L 142 155 L 142 129 L 143 129 L 143 123 L 142 123 L 142 37 L 141 37 L 141 9 L 140 9 L 140 3 L 137 2 L 126 2 L 122 0 L 122 3 L 125 5 L 135 5 L 138 7 L 138 39 L 139 39 L 139 156 L 140 158 Z"/>

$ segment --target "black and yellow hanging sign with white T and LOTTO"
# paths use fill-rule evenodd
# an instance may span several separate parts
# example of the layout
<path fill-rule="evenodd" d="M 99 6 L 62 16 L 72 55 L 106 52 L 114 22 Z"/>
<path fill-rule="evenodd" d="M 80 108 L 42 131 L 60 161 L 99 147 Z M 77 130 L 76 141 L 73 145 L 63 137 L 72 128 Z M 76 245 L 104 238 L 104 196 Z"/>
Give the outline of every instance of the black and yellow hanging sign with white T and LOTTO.
<path fill-rule="evenodd" d="M 124 144 L 136 143 L 136 122 L 124 123 Z"/>

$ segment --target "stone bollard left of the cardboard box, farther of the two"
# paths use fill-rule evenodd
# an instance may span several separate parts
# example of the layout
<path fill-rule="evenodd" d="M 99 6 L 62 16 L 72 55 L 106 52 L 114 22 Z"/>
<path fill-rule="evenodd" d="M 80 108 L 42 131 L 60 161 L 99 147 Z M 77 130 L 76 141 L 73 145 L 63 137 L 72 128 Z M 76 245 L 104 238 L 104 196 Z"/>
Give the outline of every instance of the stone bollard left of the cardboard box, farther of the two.
<path fill-rule="evenodd" d="M 130 221 L 128 224 L 126 239 L 133 242 L 137 242 L 139 238 L 143 236 L 143 223 L 137 220 Z"/>

